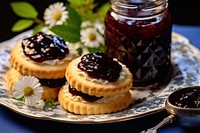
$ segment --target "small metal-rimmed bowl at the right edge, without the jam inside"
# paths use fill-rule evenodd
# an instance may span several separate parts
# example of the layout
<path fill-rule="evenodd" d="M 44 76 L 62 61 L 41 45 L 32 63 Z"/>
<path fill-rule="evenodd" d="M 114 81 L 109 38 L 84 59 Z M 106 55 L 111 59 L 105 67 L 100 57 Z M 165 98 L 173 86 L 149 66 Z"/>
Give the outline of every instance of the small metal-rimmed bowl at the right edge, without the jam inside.
<path fill-rule="evenodd" d="M 176 102 L 180 101 L 181 96 L 193 93 L 194 91 L 200 92 L 200 86 L 179 89 L 170 94 L 165 102 L 166 110 L 176 116 L 176 120 L 182 126 L 188 128 L 200 127 L 200 107 L 179 107 Z"/>

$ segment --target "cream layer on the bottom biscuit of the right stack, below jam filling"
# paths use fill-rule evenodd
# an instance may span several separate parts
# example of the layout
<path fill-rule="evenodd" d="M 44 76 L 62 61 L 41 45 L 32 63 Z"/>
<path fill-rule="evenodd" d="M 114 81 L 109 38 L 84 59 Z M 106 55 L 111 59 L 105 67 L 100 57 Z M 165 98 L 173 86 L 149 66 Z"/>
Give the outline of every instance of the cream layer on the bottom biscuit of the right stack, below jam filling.
<path fill-rule="evenodd" d="M 65 93 L 65 96 L 68 97 L 69 99 L 71 99 L 75 102 L 90 103 L 90 102 L 84 100 L 81 96 L 72 95 L 69 92 L 68 85 L 64 85 L 63 89 L 64 89 L 63 91 Z M 114 95 L 114 96 L 103 97 L 103 98 L 101 98 L 101 99 L 99 99 L 95 102 L 92 102 L 92 103 L 108 103 L 108 102 L 111 102 L 111 101 L 118 99 L 119 97 L 123 97 L 124 95 L 125 94 L 118 94 L 118 95 Z"/>

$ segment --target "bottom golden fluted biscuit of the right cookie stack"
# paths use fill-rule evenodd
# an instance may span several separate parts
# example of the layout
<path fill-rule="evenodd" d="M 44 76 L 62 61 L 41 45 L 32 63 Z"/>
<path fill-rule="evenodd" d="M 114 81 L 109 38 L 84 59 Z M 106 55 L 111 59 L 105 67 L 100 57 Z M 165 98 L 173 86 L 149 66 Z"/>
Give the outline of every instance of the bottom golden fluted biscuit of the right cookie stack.
<path fill-rule="evenodd" d="M 95 102 L 77 101 L 75 97 L 70 96 L 71 94 L 69 94 L 67 89 L 68 87 L 66 85 L 60 89 L 58 101 L 65 110 L 74 114 L 92 115 L 114 113 L 128 108 L 132 101 L 129 91 L 124 94 L 105 97 L 105 99 L 102 98 Z"/>

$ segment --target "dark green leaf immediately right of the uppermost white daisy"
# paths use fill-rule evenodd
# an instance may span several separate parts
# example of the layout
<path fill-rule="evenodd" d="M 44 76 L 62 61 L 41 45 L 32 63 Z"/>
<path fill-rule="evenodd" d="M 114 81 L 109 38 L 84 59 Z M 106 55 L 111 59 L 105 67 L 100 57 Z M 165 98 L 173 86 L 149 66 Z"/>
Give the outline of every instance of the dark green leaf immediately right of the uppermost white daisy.
<path fill-rule="evenodd" d="M 81 15 L 71 6 L 67 6 L 67 10 L 69 12 L 69 18 L 67 20 L 67 23 L 69 25 L 73 25 L 74 27 L 77 27 L 80 30 L 80 25 L 82 22 Z"/>

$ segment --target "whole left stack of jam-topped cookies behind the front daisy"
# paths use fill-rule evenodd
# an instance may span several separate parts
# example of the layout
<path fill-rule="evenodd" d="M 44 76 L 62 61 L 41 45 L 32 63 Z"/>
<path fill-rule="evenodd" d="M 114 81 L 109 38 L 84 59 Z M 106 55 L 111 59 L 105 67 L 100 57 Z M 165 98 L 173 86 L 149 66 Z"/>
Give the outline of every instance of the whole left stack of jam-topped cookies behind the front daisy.
<path fill-rule="evenodd" d="M 77 57 L 78 52 L 61 37 L 39 32 L 25 38 L 14 46 L 10 54 L 12 68 L 6 76 L 9 88 L 12 90 L 12 85 L 22 76 L 34 76 L 44 87 L 43 99 L 55 99 L 66 82 L 67 65 Z"/>

